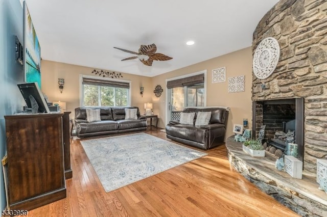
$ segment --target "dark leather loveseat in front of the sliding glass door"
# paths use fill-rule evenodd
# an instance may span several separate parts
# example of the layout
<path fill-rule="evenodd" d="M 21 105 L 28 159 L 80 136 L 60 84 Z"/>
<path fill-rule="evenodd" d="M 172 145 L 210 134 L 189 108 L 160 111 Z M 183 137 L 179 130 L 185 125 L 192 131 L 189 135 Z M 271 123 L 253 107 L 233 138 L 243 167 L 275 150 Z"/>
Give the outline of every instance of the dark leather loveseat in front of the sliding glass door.
<path fill-rule="evenodd" d="M 170 121 L 166 126 L 167 138 L 186 145 L 209 149 L 224 142 L 228 107 L 186 107 L 183 113 L 193 113 L 196 122 L 198 112 L 212 112 L 208 125 L 180 124 L 179 120 Z"/>

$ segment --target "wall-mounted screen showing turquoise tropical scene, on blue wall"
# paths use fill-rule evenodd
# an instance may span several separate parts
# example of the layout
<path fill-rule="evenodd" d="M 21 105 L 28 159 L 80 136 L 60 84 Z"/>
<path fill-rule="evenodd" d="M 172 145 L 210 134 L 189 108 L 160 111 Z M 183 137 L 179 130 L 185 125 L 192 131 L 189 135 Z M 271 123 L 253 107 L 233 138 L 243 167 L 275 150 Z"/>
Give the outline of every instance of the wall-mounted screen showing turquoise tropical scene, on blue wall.
<path fill-rule="evenodd" d="M 30 12 L 24 1 L 23 38 L 24 38 L 24 71 L 25 82 L 37 82 L 41 88 L 41 48 L 34 29 Z"/>

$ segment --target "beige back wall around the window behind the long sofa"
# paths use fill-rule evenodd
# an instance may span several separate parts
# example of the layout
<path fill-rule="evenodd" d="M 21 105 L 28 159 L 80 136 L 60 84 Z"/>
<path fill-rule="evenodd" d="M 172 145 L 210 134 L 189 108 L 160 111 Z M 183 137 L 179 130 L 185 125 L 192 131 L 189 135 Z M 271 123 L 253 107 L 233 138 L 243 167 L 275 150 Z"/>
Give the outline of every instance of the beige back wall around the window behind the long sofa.
<path fill-rule="evenodd" d="M 48 96 L 50 101 L 66 102 L 66 111 L 72 112 L 71 118 L 74 118 L 75 107 L 80 106 L 80 74 L 98 76 L 91 73 L 93 70 L 94 68 L 42 60 L 42 92 Z M 122 75 L 123 77 L 120 79 L 131 80 L 131 105 L 138 106 L 143 113 L 144 103 L 151 101 L 153 93 L 151 77 L 127 73 L 122 73 Z M 58 88 L 59 77 L 65 79 L 62 93 Z M 144 87 L 143 97 L 139 94 L 139 87 L 141 86 Z"/>

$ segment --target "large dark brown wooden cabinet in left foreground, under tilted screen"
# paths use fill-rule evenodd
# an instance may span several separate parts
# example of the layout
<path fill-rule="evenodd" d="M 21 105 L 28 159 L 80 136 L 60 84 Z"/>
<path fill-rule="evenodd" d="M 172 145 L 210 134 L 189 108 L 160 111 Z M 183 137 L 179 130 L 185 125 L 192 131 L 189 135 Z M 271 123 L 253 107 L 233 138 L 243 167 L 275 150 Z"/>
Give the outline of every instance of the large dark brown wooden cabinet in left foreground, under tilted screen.
<path fill-rule="evenodd" d="M 31 210 L 66 197 L 63 116 L 5 116 L 10 209 Z"/>

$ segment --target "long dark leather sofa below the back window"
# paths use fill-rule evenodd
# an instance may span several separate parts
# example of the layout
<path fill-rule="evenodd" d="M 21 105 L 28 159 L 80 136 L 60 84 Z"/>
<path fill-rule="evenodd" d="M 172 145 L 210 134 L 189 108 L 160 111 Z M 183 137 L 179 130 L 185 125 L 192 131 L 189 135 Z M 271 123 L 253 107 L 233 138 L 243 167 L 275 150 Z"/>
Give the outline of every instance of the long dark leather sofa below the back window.
<path fill-rule="evenodd" d="M 100 109 L 101 121 L 88 122 L 86 108 Z M 137 119 L 125 120 L 125 108 L 137 108 Z M 136 106 L 125 107 L 77 107 L 75 108 L 77 137 L 113 134 L 147 129 L 147 119 Z"/>

